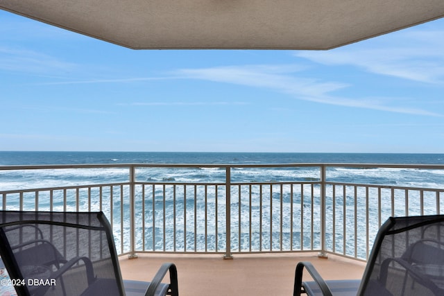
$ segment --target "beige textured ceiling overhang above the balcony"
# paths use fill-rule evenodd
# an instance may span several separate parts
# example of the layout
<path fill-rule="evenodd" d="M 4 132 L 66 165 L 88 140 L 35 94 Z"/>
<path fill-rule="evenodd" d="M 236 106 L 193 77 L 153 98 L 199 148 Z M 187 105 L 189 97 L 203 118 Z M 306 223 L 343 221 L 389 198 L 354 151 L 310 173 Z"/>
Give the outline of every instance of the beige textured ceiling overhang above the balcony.
<path fill-rule="evenodd" d="M 444 16 L 443 0 L 0 0 L 0 8 L 130 49 L 332 49 Z"/>

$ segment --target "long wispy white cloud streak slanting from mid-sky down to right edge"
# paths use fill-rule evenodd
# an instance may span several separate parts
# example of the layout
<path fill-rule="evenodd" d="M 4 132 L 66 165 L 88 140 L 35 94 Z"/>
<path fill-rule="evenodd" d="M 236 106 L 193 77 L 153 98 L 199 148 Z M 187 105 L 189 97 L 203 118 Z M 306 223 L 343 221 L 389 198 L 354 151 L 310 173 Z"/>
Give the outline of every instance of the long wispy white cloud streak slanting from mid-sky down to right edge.
<path fill-rule="evenodd" d="M 293 69 L 293 71 L 291 71 Z M 210 80 L 225 82 L 250 87 L 263 87 L 273 89 L 276 92 L 290 94 L 294 98 L 313 101 L 317 103 L 342 105 L 347 107 L 360 107 L 387 112 L 404 114 L 418 114 L 426 116 L 441 116 L 435 112 L 429 112 L 420 108 L 410 108 L 391 105 L 399 98 L 345 98 L 333 93 L 350 87 L 343 82 L 324 82 L 314 78 L 303 78 L 294 75 L 294 72 L 302 71 L 298 67 L 289 66 L 232 66 L 213 67 L 206 69 L 180 69 L 176 75 L 180 78 Z M 300 74 L 299 74 L 300 75 Z"/>

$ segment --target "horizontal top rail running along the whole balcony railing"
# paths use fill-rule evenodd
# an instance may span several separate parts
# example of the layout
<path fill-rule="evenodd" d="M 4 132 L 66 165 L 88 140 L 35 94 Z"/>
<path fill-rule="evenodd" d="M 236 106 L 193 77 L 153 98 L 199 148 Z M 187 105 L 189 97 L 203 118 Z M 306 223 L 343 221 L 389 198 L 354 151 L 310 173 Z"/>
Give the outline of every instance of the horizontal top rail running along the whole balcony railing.
<path fill-rule="evenodd" d="M 350 163 L 303 163 L 303 164 L 45 164 L 0 166 L 0 171 L 42 170 L 58 168 L 288 168 L 288 167 L 343 167 L 343 168 L 420 168 L 444 169 L 443 164 L 350 164 Z"/>

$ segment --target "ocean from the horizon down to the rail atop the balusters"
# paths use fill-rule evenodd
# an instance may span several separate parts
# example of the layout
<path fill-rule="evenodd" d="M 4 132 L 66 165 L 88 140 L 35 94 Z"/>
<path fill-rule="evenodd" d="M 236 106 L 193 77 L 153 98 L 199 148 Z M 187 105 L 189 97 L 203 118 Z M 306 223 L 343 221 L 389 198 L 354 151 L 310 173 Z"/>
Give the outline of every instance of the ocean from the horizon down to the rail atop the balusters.
<path fill-rule="evenodd" d="M 444 154 L 378 153 L 135 153 L 135 152 L 8 152 L 0 151 L 0 166 L 50 164 L 444 164 Z M 316 168 L 236 168 L 232 182 L 318 180 Z M 17 188 L 70 186 L 95 182 L 125 182 L 125 168 L 39 171 L 0 171 L 0 191 Z M 218 182 L 217 168 L 178 170 L 150 168 L 137 171 L 138 181 Z M 328 168 L 327 181 L 442 188 L 444 171 L 404 168 Z"/>

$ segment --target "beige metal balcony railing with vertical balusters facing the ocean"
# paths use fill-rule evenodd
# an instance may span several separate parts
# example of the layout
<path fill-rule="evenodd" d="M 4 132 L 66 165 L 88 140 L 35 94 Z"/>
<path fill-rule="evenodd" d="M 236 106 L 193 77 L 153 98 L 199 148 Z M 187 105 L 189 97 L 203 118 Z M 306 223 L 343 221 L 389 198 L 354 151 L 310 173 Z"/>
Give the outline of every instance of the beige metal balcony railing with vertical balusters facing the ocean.
<path fill-rule="evenodd" d="M 15 188 L 0 187 L 1 209 L 104 211 L 119 254 L 194 252 L 231 258 L 316 251 L 366 260 L 386 218 L 441 214 L 444 208 L 442 187 L 334 181 L 329 175 L 334 168 L 444 170 L 390 164 L 0 166 L 0 184 L 11 174 L 21 176 L 12 183 Z M 153 178 L 153 170 L 163 177 Z M 295 170 L 305 177 L 288 174 Z M 200 171 L 205 171 L 202 180 Z M 178 177 L 189 172 L 193 181 Z M 34 181 L 40 175 L 43 181 L 28 182 L 31 173 Z"/>

